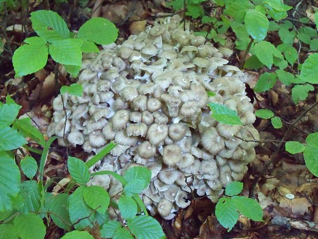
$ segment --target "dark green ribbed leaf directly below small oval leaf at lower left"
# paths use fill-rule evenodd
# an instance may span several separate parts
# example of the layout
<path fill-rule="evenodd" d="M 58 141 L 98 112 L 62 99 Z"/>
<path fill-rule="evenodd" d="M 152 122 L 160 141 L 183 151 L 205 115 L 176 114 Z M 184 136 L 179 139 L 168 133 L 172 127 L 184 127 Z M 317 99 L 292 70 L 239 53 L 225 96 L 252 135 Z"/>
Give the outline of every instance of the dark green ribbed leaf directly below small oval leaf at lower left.
<path fill-rule="evenodd" d="M 41 194 L 36 181 L 24 181 L 19 195 L 25 199 L 22 212 L 38 212 L 41 207 Z"/>

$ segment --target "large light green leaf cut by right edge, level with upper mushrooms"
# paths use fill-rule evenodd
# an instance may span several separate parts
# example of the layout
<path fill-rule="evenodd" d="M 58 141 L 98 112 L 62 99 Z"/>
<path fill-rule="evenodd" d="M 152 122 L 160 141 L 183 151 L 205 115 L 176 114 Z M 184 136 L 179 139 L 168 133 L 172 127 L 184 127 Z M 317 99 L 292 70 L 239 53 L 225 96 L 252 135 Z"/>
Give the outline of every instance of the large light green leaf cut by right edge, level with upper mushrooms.
<path fill-rule="evenodd" d="M 318 53 L 310 55 L 303 64 L 301 71 L 302 81 L 309 82 L 311 84 L 318 84 Z"/>

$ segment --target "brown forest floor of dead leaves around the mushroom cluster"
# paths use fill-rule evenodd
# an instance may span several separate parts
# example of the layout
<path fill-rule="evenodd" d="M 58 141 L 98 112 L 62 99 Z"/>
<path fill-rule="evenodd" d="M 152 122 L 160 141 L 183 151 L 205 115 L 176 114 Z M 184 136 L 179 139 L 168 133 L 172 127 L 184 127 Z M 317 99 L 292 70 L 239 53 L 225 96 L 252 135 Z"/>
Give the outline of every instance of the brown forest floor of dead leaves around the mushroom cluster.
<path fill-rule="evenodd" d="M 51 3 L 52 2 L 52 3 Z M 50 9 L 58 12 L 68 23 L 71 30 L 77 30 L 85 21 L 93 16 L 103 16 L 112 21 L 119 29 L 118 42 L 127 39 L 130 34 L 143 31 L 153 24 L 156 17 L 163 14 L 173 14 L 164 1 L 102 1 L 89 2 L 86 8 L 79 8 L 77 1 L 56 0 L 50 2 Z M 79 1 L 81 2 L 81 1 Z M 297 5 L 299 1 L 285 1 L 289 5 Z M 314 1 L 313 1 L 314 2 Z M 54 63 L 49 60 L 47 66 L 35 74 L 23 78 L 14 78 L 12 67 L 12 52 L 21 45 L 28 36 L 34 35 L 28 19 L 29 12 L 46 9 L 45 2 L 30 0 L 29 7 L 12 8 L 8 12 L 7 21 L 1 23 L 6 28 L 6 36 L 2 35 L 2 43 L 10 41 L 11 49 L 6 49 L 0 55 L 0 98 L 4 101 L 9 94 L 23 107 L 19 115 L 28 114 L 33 121 L 46 132 L 46 127 L 52 117 L 52 100 L 57 95 L 59 87 L 54 82 Z M 296 14 L 291 11 L 291 17 L 307 16 L 306 11 L 310 1 L 302 1 Z M 88 11 L 91 9 L 91 11 Z M 184 17 L 183 12 L 180 15 Z M 27 17 L 25 17 L 27 16 Z M 201 26 L 195 20 L 191 21 L 193 29 Z M 25 26 L 25 27 L 23 27 Z M 24 31 L 22 31 L 24 29 Z M 25 31 L 27 30 L 27 31 Z M 24 32 L 24 33 L 23 33 Z M 4 31 L 2 31 L 4 34 Z M 269 33 L 271 42 L 279 41 L 279 36 Z M 229 35 L 232 42 L 235 35 Z M 0 43 L 0 50 L 3 50 Z M 240 65 L 244 52 L 234 50 L 229 64 Z M 303 58 L 306 52 L 300 51 Z M 275 70 L 275 67 L 271 69 Z M 267 93 L 254 93 L 253 88 L 264 69 L 245 71 L 248 75 L 247 93 L 253 100 L 255 109 L 271 109 L 283 120 L 283 127 L 275 130 L 270 120 L 257 119 L 254 126 L 259 130 L 262 140 L 281 140 L 288 127 L 299 117 L 304 109 L 316 101 L 316 94 L 309 94 L 306 102 L 297 105 L 290 96 L 290 87 L 277 83 Z M 69 85 L 70 79 L 60 76 L 61 85 Z M 288 135 L 288 139 L 304 141 L 310 133 L 318 131 L 318 107 L 308 112 Z M 77 147 L 71 149 L 78 158 L 87 155 Z M 66 150 L 53 144 L 46 164 L 45 174 L 52 177 L 65 177 Z M 264 209 L 264 221 L 252 222 L 241 216 L 231 232 L 227 232 L 214 216 L 215 204 L 207 198 L 193 199 L 191 205 L 180 210 L 172 220 L 158 219 L 169 239 L 176 238 L 318 238 L 318 178 L 315 178 L 306 168 L 302 154 L 291 155 L 284 150 L 277 150 L 273 141 L 260 143 L 256 148 L 256 159 L 249 166 L 244 179 L 243 195 L 256 198 Z M 286 197 L 294 195 L 293 199 Z M 58 238 L 61 229 L 48 228 L 46 238 Z M 150 238 L 149 238 L 150 239 Z"/>

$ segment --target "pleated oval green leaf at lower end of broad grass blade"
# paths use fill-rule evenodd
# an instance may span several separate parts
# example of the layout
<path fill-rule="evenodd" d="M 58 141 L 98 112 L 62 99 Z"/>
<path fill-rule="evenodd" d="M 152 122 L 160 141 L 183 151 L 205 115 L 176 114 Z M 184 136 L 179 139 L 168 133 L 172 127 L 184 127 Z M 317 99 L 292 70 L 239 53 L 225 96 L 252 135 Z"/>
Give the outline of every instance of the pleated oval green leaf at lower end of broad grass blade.
<path fill-rule="evenodd" d="M 78 158 L 68 157 L 67 167 L 70 171 L 72 178 L 80 185 L 86 185 L 89 180 L 88 167 L 85 163 Z"/>

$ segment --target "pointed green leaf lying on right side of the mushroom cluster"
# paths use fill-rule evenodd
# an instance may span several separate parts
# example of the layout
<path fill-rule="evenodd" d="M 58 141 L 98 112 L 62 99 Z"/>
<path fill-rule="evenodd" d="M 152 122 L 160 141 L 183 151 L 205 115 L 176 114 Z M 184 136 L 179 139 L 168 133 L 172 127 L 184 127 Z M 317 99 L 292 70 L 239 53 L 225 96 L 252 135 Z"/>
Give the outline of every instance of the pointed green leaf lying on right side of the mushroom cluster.
<path fill-rule="evenodd" d="M 217 120 L 218 122 L 224 124 L 239 124 L 242 125 L 240 117 L 238 117 L 237 112 L 233 111 L 232 109 L 228 108 L 225 105 L 216 104 L 216 103 L 208 103 L 207 104 L 212 113 L 212 117 Z"/>

